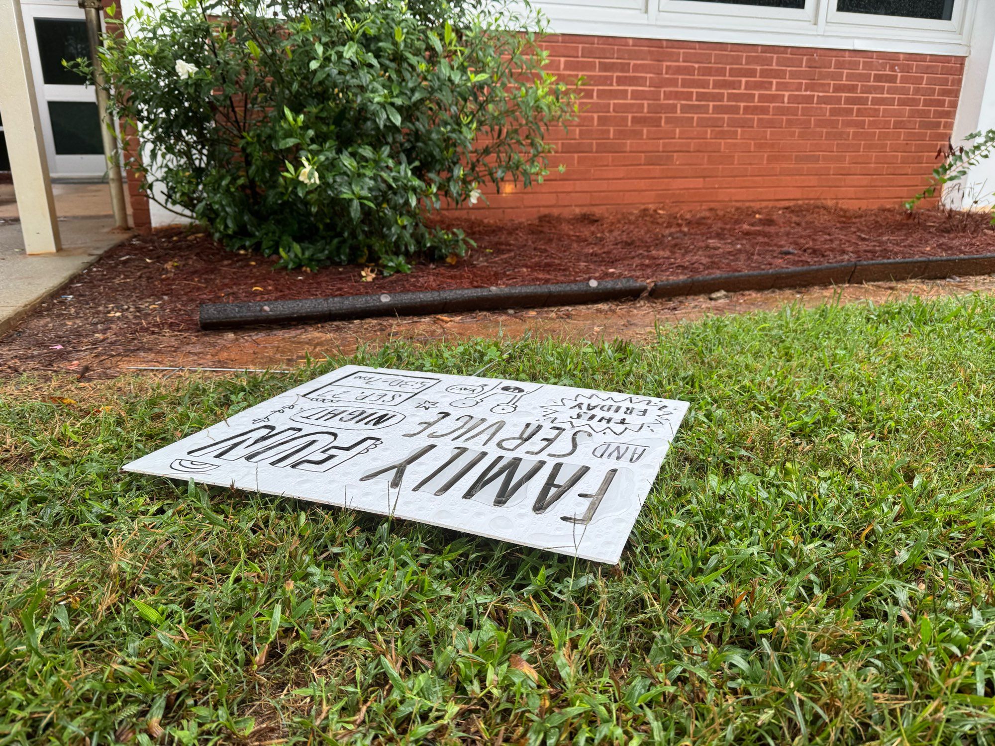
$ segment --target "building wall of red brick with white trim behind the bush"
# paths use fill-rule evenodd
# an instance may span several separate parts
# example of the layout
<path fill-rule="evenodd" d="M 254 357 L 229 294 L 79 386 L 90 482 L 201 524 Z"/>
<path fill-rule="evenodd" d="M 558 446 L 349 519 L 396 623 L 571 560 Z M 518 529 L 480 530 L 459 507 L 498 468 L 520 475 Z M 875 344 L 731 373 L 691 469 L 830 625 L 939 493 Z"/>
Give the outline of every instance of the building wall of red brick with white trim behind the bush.
<path fill-rule="evenodd" d="M 135 5 L 121 0 L 125 17 Z M 837 0 L 538 6 L 559 32 L 544 42 L 550 70 L 586 79 L 580 119 L 549 133 L 545 183 L 486 193 L 474 215 L 896 205 L 924 186 L 948 138 L 995 125 L 995 2 L 955 0 L 944 22 L 840 13 Z M 986 188 L 992 168 L 971 178 Z M 178 218 L 152 204 L 142 220 Z"/>

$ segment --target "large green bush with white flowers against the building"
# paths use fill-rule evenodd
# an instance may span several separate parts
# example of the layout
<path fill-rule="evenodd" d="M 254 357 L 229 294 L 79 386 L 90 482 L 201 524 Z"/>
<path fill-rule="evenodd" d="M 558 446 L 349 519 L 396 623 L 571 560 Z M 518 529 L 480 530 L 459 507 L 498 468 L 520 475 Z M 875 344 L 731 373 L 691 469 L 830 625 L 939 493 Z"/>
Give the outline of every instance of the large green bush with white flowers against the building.
<path fill-rule="evenodd" d="M 185 0 L 146 2 L 127 26 L 102 64 L 140 131 L 129 165 L 146 193 L 285 267 L 462 255 L 431 214 L 541 182 L 548 128 L 576 113 L 527 8 Z"/>

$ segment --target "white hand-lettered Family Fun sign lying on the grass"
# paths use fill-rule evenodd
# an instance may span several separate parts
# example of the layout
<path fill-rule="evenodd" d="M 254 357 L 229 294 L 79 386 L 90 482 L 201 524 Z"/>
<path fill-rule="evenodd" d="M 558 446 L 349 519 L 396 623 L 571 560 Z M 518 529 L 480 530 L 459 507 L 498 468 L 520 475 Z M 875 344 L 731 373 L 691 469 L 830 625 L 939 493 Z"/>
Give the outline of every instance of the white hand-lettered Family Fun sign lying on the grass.
<path fill-rule="evenodd" d="M 347 365 L 124 469 L 614 563 L 687 409 Z"/>

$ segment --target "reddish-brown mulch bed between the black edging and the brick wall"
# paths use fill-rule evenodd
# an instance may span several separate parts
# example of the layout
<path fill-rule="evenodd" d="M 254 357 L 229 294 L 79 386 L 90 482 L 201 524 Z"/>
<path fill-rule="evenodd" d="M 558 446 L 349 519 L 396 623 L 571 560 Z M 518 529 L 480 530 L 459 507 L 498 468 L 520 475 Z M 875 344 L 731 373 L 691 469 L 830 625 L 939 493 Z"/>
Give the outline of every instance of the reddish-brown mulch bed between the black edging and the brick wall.
<path fill-rule="evenodd" d="M 225 251 L 204 234 L 159 231 L 106 252 L 0 345 L 0 367 L 19 357 L 58 357 L 115 339 L 197 327 L 198 304 L 453 287 L 631 277 L 675 280 L 854 260 L 995 253 L 987 216 L 820 205 L 675 213 L 542 216 L 449 225 L 478 246 L 455 266 L 361 281 L 362 267 L 315 273 L 274 270 L 275 260 Z M 76 350 L 75 353 L 70 350 Z M 33 366 L 29 366 L 33 367 Z"/>

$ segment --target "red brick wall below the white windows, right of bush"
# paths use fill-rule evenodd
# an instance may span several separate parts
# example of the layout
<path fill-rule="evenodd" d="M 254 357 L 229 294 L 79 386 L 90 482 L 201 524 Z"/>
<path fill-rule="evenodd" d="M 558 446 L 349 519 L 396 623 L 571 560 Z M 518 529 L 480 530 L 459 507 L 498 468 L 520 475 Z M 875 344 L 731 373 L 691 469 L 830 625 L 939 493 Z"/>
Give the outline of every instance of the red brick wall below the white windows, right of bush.
<path fill-rule="evenodd" d="M 895 205 L 947 141 L 959 57 L 551 36 L 586 78 L 544 184 L 487 194 L 482 217 L 828 201 Z M 556 172 L 558 164 L 566 171 Z M 507 188 L 505 188 L 507 189 Z"/>

